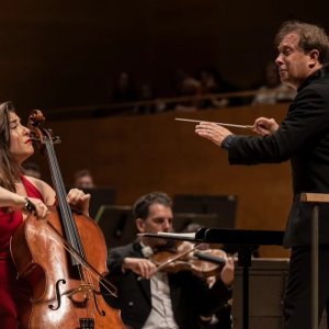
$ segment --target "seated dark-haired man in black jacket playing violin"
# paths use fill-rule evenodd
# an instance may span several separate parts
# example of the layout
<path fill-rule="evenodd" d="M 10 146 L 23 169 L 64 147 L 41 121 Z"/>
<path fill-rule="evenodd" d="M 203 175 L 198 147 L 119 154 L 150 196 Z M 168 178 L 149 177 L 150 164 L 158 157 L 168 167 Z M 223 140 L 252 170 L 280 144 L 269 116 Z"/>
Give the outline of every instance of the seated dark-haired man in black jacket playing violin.
<path fill-rule="evenodd" d="M 172 230 L 172 202 L 166 193 L 154 192 L 139 197 L 133 212 L 139 232 Z M 118 305 L 113 305 L 111 296 L 104 296 L 105 300 L 122 310 L 127 328 L 205 328 L 212 314 L 231 296 L 234 261 L 226 260 L 209 288 L 205 279 L 188 270 L 155 271 L 152 254 L 164 245 L 167 241 L 161 238 L 140 237 L 110 250 L 107 279 L 118 290 Z"/>

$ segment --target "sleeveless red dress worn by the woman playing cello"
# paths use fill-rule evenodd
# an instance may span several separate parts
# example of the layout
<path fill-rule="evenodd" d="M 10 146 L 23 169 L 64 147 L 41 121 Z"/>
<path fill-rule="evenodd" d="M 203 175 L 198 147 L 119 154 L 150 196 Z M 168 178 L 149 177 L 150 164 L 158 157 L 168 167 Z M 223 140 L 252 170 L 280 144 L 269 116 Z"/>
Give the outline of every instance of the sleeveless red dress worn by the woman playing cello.
<path fill-rule="evenodd" d="M 41 192 L 24 177 L 21 177 L 27 196 L 43 201 Z M 10 256 L 10 237 L 23 220 L 22 212 L 5 213 L 0 208 L 0 328 L 18 328 L 18 314 L 30 299 L 30 286 L 16 279 L 16 269 Z"/>

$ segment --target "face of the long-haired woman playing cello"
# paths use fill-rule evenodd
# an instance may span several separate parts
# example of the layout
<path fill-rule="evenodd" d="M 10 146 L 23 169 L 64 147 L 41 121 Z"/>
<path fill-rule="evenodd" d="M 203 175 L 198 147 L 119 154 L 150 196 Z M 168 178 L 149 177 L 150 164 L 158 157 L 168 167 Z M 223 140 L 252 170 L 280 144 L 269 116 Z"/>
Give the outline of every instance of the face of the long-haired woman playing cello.
<path fill-rule="evenodd" d="M 21 124 L 20 117 L 14 112 L 9 113 L 9 122 L 10 152 L 19 163 L 22 163 L 34 152 L 30 129 Z"/>

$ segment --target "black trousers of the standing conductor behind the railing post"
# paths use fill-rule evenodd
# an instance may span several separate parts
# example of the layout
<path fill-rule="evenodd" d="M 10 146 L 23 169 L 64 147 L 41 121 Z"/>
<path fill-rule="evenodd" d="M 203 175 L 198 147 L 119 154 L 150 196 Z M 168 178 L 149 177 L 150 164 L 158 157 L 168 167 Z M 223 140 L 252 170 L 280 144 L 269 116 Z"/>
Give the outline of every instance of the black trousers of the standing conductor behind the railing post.
<path fill-rule="evenodd" d="M 310 247 L 294 247 L 283 299 L 285 329 L 310 329 Z M 319 246 L 319 321 L 325 308 L 329 315 L 328 245 Z"/>

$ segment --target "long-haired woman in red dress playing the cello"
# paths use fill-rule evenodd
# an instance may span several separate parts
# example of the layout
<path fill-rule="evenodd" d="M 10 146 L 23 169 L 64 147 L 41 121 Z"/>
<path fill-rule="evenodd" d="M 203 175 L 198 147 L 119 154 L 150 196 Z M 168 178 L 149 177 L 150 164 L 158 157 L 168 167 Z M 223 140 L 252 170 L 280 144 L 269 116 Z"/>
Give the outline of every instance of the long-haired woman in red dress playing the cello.
<path fill-rule="evenodd" d="M 21 124 L 11 102 L 0 104 L 0 324 L 19 326 L 19 314 L 30 304 L 30 286 L 18 280 L 10 257 L 10 238 L 32 211 L 45 218 L 55 203 L 54 190 L 44 181 L 25 177 L 21 164 L 34 149 L 30 129 Z M 90 195 L 78 189 L 67 195 L 69 204 L 88 215 Z"/>

